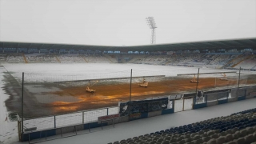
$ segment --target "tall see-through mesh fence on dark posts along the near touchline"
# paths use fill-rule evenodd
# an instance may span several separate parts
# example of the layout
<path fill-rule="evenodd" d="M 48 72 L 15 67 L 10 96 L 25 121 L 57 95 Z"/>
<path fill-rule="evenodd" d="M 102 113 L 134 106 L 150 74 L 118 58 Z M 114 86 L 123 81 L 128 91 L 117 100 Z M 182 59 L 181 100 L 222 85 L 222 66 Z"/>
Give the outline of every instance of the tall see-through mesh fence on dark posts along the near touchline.
<path fill-rule="evenodd" d="M 192 109 L 193 103 L 206 102 L 204 97 L 183 98 L 184 93 L 256 84 L 253 74 L 199 73 L 197 79 L 196 74 L 174 77 L 171 73 L 159 70 L 100 74 L 26 73 L 23 83 L 21 78 L 17 79 L 23 86 L 23 115 L 19 115 L 26 118 L 25 127 L 47 129 L 95 122 L 100 116 L 118 114 L 118 108 L 113 107 L 118 106 L 118 102 L 162 97 L 174 99 L 174 112 L 177 112 Z M 219 95 L 208 94 L 208 102 L 229 97 Z"/>

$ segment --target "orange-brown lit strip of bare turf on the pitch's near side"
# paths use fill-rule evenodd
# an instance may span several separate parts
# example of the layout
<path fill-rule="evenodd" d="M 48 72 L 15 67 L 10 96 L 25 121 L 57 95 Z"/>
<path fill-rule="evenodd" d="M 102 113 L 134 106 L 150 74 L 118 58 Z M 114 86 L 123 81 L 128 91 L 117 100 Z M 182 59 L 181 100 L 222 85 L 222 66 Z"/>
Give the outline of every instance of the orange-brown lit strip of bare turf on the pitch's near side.
<path fill-rule="evenodd" d="M 138 83 L 131 85 L 131 100 L 142 100 L 145 98 L 168 96 L 170 94 L 184 94 L 195 92 L 196 83 L 190 83 L 191 78 L 169 78 L 160 82 L 149 82 L 147 88 L 138 86 Z M 223 86 L 237 86 L 236 79 L 222 81 L 216 78 L 200 78 L 198 90 L 223 89 Z M 256 84 L 256 79 L 241 80 L 240 84 Z M 92 110 L 102 107 L 118 106 L 118 102 L 130 100 L 130 83 L 101 85 L 97 84 L 91 89 L 96 90 L 94 94 L 86 92 L 85 86 L 62 87 L 60 91 L 51 92 L 58 96 L 70 95 L 79 99 L 79 102 L 53 102 L 46 104 L 51 108 L 50 114 L 65 114 L 78 110 Z"/>

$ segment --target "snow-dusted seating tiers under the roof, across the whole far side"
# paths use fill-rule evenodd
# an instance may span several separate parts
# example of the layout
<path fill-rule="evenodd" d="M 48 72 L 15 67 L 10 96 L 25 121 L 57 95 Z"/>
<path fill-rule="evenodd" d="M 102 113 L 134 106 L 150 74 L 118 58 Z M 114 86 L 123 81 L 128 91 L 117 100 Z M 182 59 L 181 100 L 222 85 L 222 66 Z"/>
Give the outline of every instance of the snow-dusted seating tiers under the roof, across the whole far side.
<path fill-rule="evenodd" d="M 255 54 L 188 53 L 176 54 L 102 54 L 86 50 L 46 50 L 3 48 L 1 63 L 134 63 L 214 69 L 256 70 Z"/>

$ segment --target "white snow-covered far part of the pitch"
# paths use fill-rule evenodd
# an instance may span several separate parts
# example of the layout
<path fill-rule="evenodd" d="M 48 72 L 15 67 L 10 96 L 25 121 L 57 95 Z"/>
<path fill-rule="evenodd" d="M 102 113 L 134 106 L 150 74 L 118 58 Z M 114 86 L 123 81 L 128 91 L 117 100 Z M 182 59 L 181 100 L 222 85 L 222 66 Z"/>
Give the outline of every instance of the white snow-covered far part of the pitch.
<path fill-rule="evenodd" d="M 86 74 L 87 78 L 120 78 L 133 76 L 166 75 L 166 77 L 177 76 L 177 74 L 197 74 L 196 67 L 182 66 L 158 66 L 140 64 L 102 64 L 102 63 L 76 63 L 76 64 L 4 64 L 6 70 L 12 73 L 14 78 L 22 78 L 22 72 L 36 74 Z M 219 72 L 220 70 L 202 68 L 200 73 Z M 221 70 L 234 71 L 234 70 Z M 104 76 L 105 75 L 105 76 Z"/>

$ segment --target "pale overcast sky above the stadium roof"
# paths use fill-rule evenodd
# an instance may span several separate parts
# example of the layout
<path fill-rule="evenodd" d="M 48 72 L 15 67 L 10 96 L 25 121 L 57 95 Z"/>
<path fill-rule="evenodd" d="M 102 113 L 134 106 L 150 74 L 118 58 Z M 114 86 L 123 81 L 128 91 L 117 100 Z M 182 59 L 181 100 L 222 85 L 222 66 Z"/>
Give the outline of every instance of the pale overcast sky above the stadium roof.
<path fill-rule="evenodd" d="M 0 41 L 106 46 L 256 37 L 256 0 L 0 0 Z"/>

